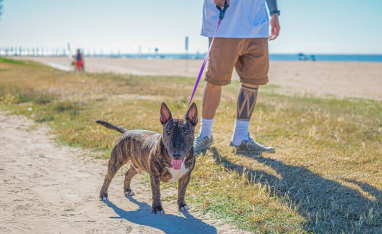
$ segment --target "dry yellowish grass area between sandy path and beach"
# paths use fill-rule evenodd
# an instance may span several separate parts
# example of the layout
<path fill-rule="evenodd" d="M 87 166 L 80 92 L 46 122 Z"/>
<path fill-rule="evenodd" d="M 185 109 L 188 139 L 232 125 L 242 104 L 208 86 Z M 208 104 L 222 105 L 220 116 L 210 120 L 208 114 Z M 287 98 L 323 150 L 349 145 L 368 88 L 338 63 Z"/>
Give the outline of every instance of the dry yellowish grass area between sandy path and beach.
<path fill-rule="evenodd" d="M 74 74 L 34 63 L 0 62 L 0 70 L 3 108 L 47 122 L 62 142 L 103 157 L 118 133 L 95 119 L 161 131 L 160 103 L 180 118 L 194 82 Z M 254 232 L 382 232 L 382 103 L 279 94 L 265 85 L 250 131 L 277 153 L 239 155 L 228 147 L 238 86 L 224 88 L 213 147 L 197 158 L 188 188 L 197 209 Z"/>

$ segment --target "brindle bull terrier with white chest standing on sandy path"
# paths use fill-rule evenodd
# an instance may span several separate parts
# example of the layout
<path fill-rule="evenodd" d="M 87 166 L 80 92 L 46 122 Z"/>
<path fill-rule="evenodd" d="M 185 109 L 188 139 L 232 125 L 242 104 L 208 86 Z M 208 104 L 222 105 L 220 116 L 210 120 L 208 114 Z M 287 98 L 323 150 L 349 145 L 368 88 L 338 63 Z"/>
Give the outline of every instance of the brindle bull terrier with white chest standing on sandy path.
<path fill-rule="evenodd" d="M 188 109 L 186 119 L 183 120 L 173 119 L 170 109 L 163 102 L 160 107 L 162 134 L 146 130 L 127 130 L 99 120 L 96 123 L 123 133 L 108 161 L 107 174 L 99 194 L 101 200 L 108 200 L 107 188 L 114 175 L 121 166 L 130 162 L 123 186 L 125 195 L 134 195 L 130 188 L 130 181 L 137 173 L 146 171 L 150 174 L 152 213 L 165 213 L 160 201 L 160 182 L 179 181 L 178 209 L 179 211 L 189 209 L 184 200 L 184 194 L 195 166 L 193 142 L 195 126 L 198 123 L 198 110 L 195 103 Z"/>

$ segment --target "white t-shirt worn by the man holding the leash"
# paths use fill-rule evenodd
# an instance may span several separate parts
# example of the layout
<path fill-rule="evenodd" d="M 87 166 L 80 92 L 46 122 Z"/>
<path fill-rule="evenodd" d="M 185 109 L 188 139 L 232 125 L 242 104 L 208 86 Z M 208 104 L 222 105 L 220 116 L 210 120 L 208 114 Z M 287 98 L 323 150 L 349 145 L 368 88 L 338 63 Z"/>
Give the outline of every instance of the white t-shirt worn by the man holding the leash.
<path fill-rule="evenodd" d="M 216 37 L 268 38 L 269 19 L 265 0 L 231 0 Z M 213 37 L 219 10 L 213 0 L 204 0 L 202 36 Z"/>

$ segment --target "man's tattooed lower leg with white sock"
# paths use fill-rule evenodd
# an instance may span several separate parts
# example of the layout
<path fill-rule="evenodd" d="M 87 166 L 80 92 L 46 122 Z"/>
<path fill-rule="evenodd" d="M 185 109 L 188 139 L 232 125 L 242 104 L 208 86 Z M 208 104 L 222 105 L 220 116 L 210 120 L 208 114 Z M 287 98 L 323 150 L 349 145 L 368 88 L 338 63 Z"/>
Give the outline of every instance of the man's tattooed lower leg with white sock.
<path fill-rule="evenodd" d="M 259 85 L 242 83 L 236 103 L 236 122 L 231 142 L 240 145 L 243 140 L 250 140 L 250 119 L 257 100 Z"/>

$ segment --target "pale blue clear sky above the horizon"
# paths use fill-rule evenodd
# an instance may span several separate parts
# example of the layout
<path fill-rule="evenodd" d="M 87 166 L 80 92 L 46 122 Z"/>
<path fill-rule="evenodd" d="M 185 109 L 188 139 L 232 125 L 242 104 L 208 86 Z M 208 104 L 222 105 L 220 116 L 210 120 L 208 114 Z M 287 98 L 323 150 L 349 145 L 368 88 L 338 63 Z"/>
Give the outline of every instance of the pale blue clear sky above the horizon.
<path fill-rule="evenodd" d="M 210 0 L 212 1 L 212 0 Z M 240 1 L 240 0 L 231 0 Z M 382 54 L 381 0 L 279 0 L 270 53 Z M 202 0 L 5 0 L 0 47 L 81 47 L 91 52 L 205 52 Z M 227 13 L 229 14 L 229 9 Z"/>

